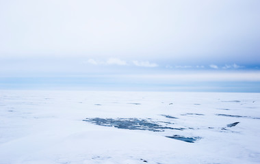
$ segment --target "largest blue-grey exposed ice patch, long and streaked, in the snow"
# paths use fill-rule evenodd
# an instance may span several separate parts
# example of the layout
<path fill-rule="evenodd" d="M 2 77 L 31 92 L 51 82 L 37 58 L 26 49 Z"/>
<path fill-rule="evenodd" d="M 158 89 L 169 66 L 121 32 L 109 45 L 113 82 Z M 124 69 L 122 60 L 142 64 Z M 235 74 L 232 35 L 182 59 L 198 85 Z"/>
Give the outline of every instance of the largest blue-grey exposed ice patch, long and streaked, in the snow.
<path fill-rule="evenodd" d="M 164 129 L 179 130 L 183 131 L 184 128 L 172 128 L 168 126 L 162 126 L 156 122 L 151 122 L 144 119 L 138 118 L 86 118 L 83 120 L 91 122 L 92 124 L 101 126 L 114 126 L 115 128 L 123 128 L 129 130 L 142 130 L 142 131 L 164 131 Z"/>

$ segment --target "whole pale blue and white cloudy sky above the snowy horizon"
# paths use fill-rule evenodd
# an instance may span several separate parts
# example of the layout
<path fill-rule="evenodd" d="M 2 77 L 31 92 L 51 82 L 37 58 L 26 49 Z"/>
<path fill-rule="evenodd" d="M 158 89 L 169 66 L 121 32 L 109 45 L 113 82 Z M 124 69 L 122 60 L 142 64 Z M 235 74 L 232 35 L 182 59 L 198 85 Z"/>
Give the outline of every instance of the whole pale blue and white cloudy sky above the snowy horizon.
<path fill-rule="evenodd" d="M 0 0 L 0 89 L 260 92 L 259 17 L 259 0 Z"/>

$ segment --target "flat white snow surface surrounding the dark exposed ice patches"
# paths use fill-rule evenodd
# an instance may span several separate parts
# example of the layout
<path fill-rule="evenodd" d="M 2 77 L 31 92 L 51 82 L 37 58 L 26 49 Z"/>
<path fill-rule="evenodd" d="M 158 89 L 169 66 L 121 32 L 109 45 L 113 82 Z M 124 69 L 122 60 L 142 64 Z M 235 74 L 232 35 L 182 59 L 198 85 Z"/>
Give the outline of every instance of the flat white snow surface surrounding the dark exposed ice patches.
<path fill-rule="evenodd" d="M 183 131 L 129 130 L 86 118 L 173 122 L 168 126 Z M 239 124 L 226 126 L 234 122 Z M 174 135 L 200 139 L 165 137 Z M 0 92 L 1 164 L 260 163 L 259 140 L 260 94 Z"/>

